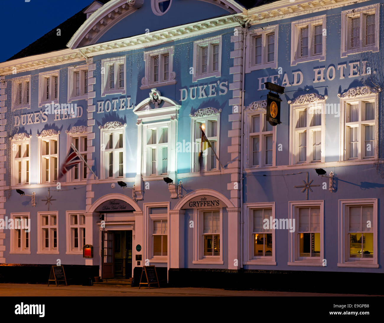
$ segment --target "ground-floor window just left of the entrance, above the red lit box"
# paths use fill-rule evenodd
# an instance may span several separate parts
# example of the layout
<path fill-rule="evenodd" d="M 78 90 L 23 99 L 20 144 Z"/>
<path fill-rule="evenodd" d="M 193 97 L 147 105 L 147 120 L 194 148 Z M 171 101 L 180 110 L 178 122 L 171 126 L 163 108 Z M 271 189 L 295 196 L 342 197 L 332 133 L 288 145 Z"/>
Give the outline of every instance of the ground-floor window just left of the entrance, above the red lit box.
<path fill-rule="evenodd" d="M 76 211 L 75 211 L 76 212 Z M 81 213 L 66 212 L 67 253 L 81 254 L 85 244 L 85 216 Z"/>

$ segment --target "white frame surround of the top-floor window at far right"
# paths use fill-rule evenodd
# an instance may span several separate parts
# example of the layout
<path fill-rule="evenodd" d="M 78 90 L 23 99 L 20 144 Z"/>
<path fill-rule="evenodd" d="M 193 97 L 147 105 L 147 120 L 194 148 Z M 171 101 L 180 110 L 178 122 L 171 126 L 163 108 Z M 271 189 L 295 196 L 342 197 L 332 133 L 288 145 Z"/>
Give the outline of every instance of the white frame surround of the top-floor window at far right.
<path fill-rule="evenodd" d="M 375 44 L 363 46 L 362 42 L 365 40 L 364 22 L 366 13 L 375 14 Z M 360 17 L 360 45 L 358 48 L 350 48 L 350 38 L 348 30 L 349 18 Z M 379 33 L 380 33 L 380 4 L 369 5 L 366 7 L 345 10 L 341 12 L 341 54 L 340 57 L 347 57 L 348 55 L 363 53 L 366 51 L 377 52 L 379 51 Z"/>

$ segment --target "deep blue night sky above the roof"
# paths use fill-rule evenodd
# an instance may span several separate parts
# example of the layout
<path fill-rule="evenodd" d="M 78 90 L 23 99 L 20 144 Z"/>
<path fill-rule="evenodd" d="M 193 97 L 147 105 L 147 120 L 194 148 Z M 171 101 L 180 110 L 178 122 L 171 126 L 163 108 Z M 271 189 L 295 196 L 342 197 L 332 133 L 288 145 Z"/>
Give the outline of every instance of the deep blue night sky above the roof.
<path fill-rule="evenodd" d="M 2 46 L 0 62 L 18 53 L 93 0 L 0 0 Z"/>

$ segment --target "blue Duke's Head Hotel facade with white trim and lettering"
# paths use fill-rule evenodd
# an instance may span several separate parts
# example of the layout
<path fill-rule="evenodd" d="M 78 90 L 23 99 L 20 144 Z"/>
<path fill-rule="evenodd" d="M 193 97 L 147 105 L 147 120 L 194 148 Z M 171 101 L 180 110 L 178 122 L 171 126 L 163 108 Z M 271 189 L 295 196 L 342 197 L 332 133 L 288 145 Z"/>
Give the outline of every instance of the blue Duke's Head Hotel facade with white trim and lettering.
<path fill-rule="evenodd" d="M 0 277 L 376 278 L 382 16 L 377 1 L 94 1 L 0 63 Z M 265 82 L 285 88 L 276 126 Z M 59 178 L 71 144 L 92 171 Z"/>

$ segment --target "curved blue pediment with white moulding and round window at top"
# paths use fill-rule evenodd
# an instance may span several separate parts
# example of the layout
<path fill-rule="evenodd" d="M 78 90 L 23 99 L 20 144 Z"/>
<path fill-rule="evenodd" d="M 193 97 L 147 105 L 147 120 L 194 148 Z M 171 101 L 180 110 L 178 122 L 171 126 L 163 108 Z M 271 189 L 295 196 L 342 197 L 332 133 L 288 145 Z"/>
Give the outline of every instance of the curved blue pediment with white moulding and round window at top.
<path fill-rule="evenodd" d="M 76 31 L 68 42 L 69 48 L 89 46 L 107 41 L 129 38 L 137 35 L 146 35 L 142 21 L 147 21 L 150 31 L 162 30 L 175 25 L 184 25 L 194 21 L 226 16 L 243 11 L 242 5 L 233 0 L 185 0 L 172 1 L 171 9 L 159 21 L 151 9 L 151 0 L 111 0 L 102 7 L 94 1 L 84 12 L 89 18 Z M 97 9 L 96 9 L 97 8 Z M 199 10 L 201 8 L 201 10 Z M 92 10 L 96 11 L 92 12 Z M 189 12 L 188 16 L 176 12 Z M 137 12 L 135 15 L 132 13 Z M 128 17 L 129 16 L 129 17 Z M 190 20 L 190 21 L 186 21 Z M 153 21 L 153 23 L 151 23 Z M 156 23 L 155 23 L 156 21 Z"/>

